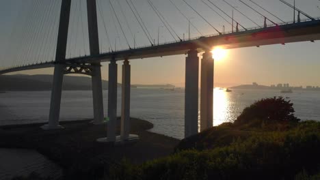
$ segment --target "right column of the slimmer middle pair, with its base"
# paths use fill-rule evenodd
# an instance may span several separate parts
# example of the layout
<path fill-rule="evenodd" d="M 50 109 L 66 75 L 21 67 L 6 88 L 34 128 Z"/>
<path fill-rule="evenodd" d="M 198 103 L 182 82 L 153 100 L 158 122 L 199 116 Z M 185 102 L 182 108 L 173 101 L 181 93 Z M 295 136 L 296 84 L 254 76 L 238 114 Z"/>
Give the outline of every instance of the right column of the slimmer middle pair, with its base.
<path fill-rule="evenodd" d="M 130 133 L 130 89 L 131 89 L 131 67 L 128 59 L 122 65 L 122 104 L 121 104 L 121 130 L 120 140 L 137 140 L 138 136 Z"/>

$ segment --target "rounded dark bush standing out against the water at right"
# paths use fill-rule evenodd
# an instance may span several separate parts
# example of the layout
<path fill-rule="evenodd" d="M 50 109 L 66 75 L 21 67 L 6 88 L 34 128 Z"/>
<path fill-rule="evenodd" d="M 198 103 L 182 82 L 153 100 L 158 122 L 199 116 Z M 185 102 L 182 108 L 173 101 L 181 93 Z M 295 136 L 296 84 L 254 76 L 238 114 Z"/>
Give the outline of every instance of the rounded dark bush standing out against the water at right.
<path fill-rule="evenodd" d="M 261 127 L 275 123 L 297 123 L 300 119 L 297 119 L 293 112 L 295 110 L 290 100 L 286 100 L 284 97 L 266 98 L 245 108 L 237 117 L 235 125 Z"/>

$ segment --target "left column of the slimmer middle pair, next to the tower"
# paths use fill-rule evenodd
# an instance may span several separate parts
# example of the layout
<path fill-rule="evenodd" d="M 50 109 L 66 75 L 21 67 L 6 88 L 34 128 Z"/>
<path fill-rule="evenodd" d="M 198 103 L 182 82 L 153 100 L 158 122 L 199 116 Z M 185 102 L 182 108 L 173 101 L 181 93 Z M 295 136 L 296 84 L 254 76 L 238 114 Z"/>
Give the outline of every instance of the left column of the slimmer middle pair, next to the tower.
<path fill-rule="evenodd" d="M 116 61 L 109 63 L 109 87 L 108 87 L 108 130 L 107 141 L 116 141 L 117 121 L 117 89 L 118 89 L 118 65 Z"/>

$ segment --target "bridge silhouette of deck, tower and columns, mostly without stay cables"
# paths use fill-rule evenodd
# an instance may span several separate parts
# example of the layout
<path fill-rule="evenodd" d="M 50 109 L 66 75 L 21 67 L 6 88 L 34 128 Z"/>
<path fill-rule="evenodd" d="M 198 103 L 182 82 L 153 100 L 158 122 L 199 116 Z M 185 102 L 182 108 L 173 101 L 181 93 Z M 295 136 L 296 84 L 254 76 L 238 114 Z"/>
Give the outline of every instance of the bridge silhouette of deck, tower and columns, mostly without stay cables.
<path fill-rule="evenodd" d="M 155 8 L 151 1 L 148 0 L 148 2 L 150 3 L 151 7 Z M 211 1 L 209 1 L 209 3 L 210 2 Z M 283 2 L 286 3 L 286 1 Z M 187 2 L 185 1 L 185 3 Z M 241 3 L 245 2 L 241 1 Z M 289 3 L 286 4 L 291 7 Z M 187 5 L 189 4 L 187 3 Z M 245 3 L 245 5 L 248 4 Z M 200 130 L 206 130 L 207 128 L 213 126 L 214 60 L 211 50 L 214 46 L 222 46 L 223 48 L 231 49 L 251 46 L 259 47 L 270 44 L 286 44 L 291 42 L 314 42 L 315 40 L 320 39 L 320 19 L 312 18 L 311 16 L 308 16 L 308 14 L 298 10 L 296 7 L 292 7 L 294 12 L 298 12 L 297 21 L 294 20 L 289 23 L 285 23 L 284 21 L 282 21 L 282 23 L 274 23 L 274 21 L 269 20 L 269 18 L 265 16 L 265 25 L 263 27 L 258 26 L 256 28 L 249 29 L 243 27 L 232 18 L 232 31 L 229 33 L 222 33 L 215 29 L 217 34 L 214 35 L 201 36 L 193 39 L 189 38 L 187 40 L 181 40 L 179 38 L 180 40 L 165 44 L 155 44 L 151 42 L 150 46 L 134 46 L 134 48 L 129 46 L 129 49 L 126 50 L 116 51 L 115 49 L 110 50 L 109 52 L 101 53 L 98 38 L 96 0 L 87 0 L 90 55 L 67 59 L 66 50 L 70 20 L 70 6 L 71 0 L 62 0 L 54 61 L 18 65 L 14 67 L 2 67 L 0 74 L 21 70 L 34 70 L 44 67 L 54 67 L 49 123 L 48 125 L 43 126 L 44 129 L 51 130 L 62 128 L 59 125 L 59 109 L 64 74 L 85 74 L 92 76 L 94 123 L 103 123 L 104 114 L 103 92 L 101 85 L 101 62 L 108 61 L 109 102 L 107 116 L 109 117 L 109 122 L 107 138 L 102 138 L 100 139 L 101 141 L 107 140 L 114 142 L 116 140 L 125 141 L 137 139 L 137 136 L 129 134 L 131 85 L 131 66 L 129 64 L 129 60 L 170 55 L 187 55 L 185 61 L 185 136 L 187 137 L 198 133 L 199 52 L 204 52 L 201 61 L 202 71 L 200 77 Z M 157 13 L 157 9 L 154 10 Z M 259 12 L 257 13 L 260 14 Z M 302 20 L 300 18 L 300 13 L 306 16 L 308 19 Z M 165 19 L 163 18 L 163 20 Z M 267 20 L 271 22 L 271 25 L 267 25 Z M 234 21 L 237 25 L 235 31 L 233 28 Z M 165 23 L 163 24 L 165 25 Z M 239 29 L 239 25 L 242 27 L 242 29 Z M 120 136 L 116 136 L 116 97 L 118 82 L 117 61 L 121 60 L 124 60 L 122 65 L 121 134 Z"/>

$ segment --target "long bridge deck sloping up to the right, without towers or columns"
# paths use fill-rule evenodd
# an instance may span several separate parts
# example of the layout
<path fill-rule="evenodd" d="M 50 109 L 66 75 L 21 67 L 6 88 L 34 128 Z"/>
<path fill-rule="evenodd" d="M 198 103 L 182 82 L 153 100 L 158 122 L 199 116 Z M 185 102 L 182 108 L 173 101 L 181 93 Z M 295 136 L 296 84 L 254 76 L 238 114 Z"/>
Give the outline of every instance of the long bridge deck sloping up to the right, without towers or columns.
<path fill-rule="evenodd" d="M 67 59 L 66 63 L 68 66 L 68 64 L 75 63 L 99 63 L 103 61 L 111 61 L 111 59 L 120 61 L 124 59 L 144 59 L 149 57 L 186 55 L 190 49 L 196 49 L 198 52 L 204 52 L 204 50 L 211 49 L 214 46 L 232 49 L 315 40 L 320 40 L 320 20 L 310 20 L 302 23 L 252 29 L 211 37 L 199 37 L 195 40 L 135 48 L 131 50 L 121 50 L 118 52 L 108 52 L 88 57 L 77 57 Z M 45 62 L 34 65 L 25 65 L 22 67 L 12 67 L 8 70 L 0 71 L 0 74 L 53 67 L 53 65 L 54 64 L 52 62 Z"/>

